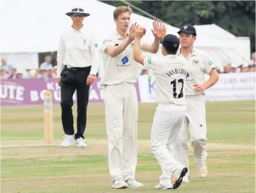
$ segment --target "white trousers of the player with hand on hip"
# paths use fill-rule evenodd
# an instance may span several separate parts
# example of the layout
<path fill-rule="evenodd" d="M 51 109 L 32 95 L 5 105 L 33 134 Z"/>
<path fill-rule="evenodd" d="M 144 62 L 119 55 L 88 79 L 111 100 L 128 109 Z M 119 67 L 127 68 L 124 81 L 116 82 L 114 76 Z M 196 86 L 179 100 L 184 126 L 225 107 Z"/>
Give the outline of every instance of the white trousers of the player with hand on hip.
<path fill-rule="evenodd" d="M 197 165 L 206 165 L 206 109 L 204 95 L 186 96 L 186 117 L 174 146 L 174 158 L 186 167 L 188 159 L 188 129 L 191 134 L 194 160 Z"/>

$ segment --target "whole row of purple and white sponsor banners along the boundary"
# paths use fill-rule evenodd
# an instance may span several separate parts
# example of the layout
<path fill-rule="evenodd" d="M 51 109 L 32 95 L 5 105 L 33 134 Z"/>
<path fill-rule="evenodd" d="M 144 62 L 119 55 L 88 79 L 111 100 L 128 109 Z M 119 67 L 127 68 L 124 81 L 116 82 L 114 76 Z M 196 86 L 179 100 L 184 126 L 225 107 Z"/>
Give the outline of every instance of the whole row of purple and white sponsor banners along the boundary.
<path fill-rule="evenodd" d="M 219 77 L 219 81 L 207 89 L 207 101 L 255 99 L 255 73 L 219 74 Z M 155 102 L 155 77 L 139 76 L 135 88 L 139 102 Z M 1 105 L 43 105 L 44 91 L 52 92 L 53 104 L 61 102 L 57 79 L 1 80 Z M 73 99 L 76 104 L 76 92 Z M 91 85 L 89 102 L 104 102 L 104 90 L 98 78 Z"/>

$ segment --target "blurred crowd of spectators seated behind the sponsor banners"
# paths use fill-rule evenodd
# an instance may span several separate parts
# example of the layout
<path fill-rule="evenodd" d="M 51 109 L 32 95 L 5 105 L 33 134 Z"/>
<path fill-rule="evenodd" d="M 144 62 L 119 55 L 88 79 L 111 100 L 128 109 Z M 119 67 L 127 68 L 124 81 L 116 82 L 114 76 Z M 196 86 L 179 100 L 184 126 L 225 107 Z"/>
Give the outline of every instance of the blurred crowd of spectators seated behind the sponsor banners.
<path fill-rule="evenodd" d="M 57 77 L 57 67 L 53 65 L 51 56 L 46 56 L 39 68 L 28 68 L 25 73 L 20 73 L 5 58 L 1 58 L 1 79 L 29 79 L 41 78 L 52 79 Z M 223 71 L 217 69 L 218 73 L 244 73 L 255 72 L 255 52 L 249 64 L 240 64 L 238 67 L 230 62 L 225 64 Z M 151 75 L 147 69 L 142 69 L 140 75 Z"/>

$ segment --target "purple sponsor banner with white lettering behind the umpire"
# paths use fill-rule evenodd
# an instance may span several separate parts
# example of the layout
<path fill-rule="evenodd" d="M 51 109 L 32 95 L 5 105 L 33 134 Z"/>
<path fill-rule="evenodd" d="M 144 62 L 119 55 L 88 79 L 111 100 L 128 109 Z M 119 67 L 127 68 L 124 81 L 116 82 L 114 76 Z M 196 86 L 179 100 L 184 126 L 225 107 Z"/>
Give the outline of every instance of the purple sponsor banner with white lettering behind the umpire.
<path fill-rule="evenodd" d="M 135 84 L 138 101 L 140 92 Z M 61 88 L 57 79 L 7 79 L 1 80 L 1 105 L 34 105 L 42 104 L 45 91 L 52 91 L 53 104 L 61 102 Z M 76 92 L 73 95 L 74 104 L 77 102 Z M 104 102 L 104 89 L 100 79 L 95 79 L 89 90 L 89 102 Z"/>

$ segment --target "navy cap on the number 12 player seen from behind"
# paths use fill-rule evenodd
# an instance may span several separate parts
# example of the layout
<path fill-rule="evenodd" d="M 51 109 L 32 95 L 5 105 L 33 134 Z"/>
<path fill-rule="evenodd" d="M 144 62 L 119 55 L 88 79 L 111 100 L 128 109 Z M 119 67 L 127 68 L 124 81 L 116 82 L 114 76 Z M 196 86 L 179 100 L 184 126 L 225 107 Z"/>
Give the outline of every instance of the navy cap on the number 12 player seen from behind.
<path fill-rule="evenodd" d="M 164 39 L 160 41 L 160 43 L 167 51 L 176 52 L 177 49 L 179 49 L 180 41 L 176 35 L 167 34 L 165 35 Z"/>

